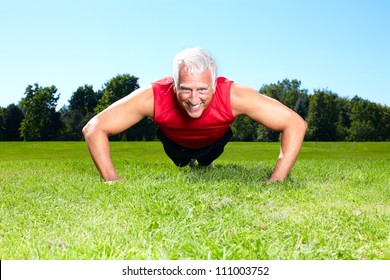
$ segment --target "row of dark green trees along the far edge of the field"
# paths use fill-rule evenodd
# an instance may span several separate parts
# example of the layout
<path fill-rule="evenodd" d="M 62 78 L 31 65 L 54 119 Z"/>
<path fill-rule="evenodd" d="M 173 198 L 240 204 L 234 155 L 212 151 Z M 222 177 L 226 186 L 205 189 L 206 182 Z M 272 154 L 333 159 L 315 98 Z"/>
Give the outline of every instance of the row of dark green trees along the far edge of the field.
<path fill-rule="evenodd" d="M 139 88 L 129 74 L 108 80 L 95 91 L 84 85 L 69 104 L 56 110 L 60 94 L 55 86 L 28 85 L 18 104 L 0 107 L 0 141 L 81 141 L 82 127 L 95 114 Z M 390 107 L 358 96 L 340 97 L 328 89 L 309 94 L 301 81 L 284 79 L 263 85 L 261 94 L 279 100 L 308 123 L 306 141 L 390 141 Z M 239 116 L 232 125 L 233 141 L 279 141 L 280 133 Z M 156 126 L 150 118 L 115 136 L 117 141 L 152 141 Z"/>

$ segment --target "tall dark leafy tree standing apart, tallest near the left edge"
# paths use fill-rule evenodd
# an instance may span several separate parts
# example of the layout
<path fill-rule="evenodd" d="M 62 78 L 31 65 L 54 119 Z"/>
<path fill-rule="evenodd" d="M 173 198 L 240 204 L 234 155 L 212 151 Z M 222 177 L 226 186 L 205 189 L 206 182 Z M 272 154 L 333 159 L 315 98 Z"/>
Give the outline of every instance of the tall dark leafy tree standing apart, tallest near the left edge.
<path fill-rule="evenodd" d="M 20 133 L 25 141 L 56 140 L 63 124 L 60 115 L 56 112 L 57 94 L 55 86 L 42 88 L 38 84 L 29 85 L 25 97 L 20 102 L 24 112 Z"/>

